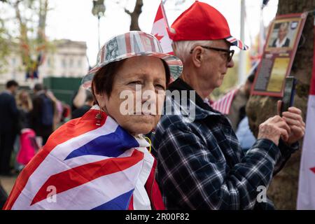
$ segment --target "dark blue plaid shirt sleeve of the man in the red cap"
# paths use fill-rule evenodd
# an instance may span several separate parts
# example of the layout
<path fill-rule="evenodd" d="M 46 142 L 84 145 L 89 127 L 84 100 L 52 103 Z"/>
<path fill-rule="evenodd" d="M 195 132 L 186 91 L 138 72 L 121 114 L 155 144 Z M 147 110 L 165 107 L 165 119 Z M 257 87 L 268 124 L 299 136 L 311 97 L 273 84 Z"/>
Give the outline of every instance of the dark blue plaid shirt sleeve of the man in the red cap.
<path fill-rule="evenodd" d="M 167 209 L 253 209 L 258 186 L 269 185 L 279 148 L 267 139 L 253 148 L 234 167 L 218 156 L 216 144 L 185 125 L 167 127 L 156 148 L 158 181 Z"/>

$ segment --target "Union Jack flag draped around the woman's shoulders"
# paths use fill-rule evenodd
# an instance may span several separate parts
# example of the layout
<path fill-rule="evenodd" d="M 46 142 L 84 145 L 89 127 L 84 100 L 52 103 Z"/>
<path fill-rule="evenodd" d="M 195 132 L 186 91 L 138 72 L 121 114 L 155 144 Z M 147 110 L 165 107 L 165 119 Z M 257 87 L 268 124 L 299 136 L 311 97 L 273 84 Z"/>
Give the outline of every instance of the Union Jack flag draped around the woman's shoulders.
<path fill-rule="evenodd" d="M 18 176 L 3 209 L 151 209 L 144 188 L 154 158 L 94 106 L 59 127 Z"/>

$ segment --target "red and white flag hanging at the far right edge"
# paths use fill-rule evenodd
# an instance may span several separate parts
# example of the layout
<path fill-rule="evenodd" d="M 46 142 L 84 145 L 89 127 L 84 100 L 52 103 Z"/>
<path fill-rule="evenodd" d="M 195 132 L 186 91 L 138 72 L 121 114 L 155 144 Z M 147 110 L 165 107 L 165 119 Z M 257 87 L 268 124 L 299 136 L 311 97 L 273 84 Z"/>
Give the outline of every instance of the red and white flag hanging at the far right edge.
<path fill-rule="evenodd" d="M 315 21 L 314 21 L 315 26 Z M 315 27 L 314 27 L 315 34 Z M 315 39 L 314 39 L 315 44 Z M 306 130 L 300 165 L 297 209 L 315 209 L 315 48 L 311 89 L 307 102 Z"/>

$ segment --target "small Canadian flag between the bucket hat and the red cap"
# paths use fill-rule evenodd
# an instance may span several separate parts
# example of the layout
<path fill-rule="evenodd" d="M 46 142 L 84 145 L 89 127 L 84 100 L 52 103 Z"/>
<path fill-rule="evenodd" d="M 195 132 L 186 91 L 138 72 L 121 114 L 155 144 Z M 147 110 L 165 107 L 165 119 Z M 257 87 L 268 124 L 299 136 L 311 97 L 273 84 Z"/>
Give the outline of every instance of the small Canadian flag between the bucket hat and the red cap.
<path fill-rule="evenodd" d="M 155 20 L 153 23 L 151 34 L 158 38 L 158 41 L 160 41 L 162 45 L 163 52 L 170 55 L 174 55 L 172 48 L 172 40 L 171 38 L 169 38 L 167 29 L 169 29 L 169 24 L 167 22 L 164 6 L 161 1 L 160 6 L 158 8 L 158 12 L 155 15 Z"/>

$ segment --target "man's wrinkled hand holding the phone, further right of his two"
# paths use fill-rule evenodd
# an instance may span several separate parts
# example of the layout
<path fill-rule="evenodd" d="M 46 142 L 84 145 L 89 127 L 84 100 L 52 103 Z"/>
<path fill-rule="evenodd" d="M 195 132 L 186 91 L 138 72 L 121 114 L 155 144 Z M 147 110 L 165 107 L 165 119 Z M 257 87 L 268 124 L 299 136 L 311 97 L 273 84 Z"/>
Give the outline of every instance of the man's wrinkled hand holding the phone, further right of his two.
<path fill-rule="evenodd" d="M 278 101 L 278 113 L 280 114 L 281 100 Z M 286 144 L 290 145 L 302 139 L 305 133 L 305 123 L 302 118 L 302 111 L 294 106 L 289 107 L 288 111 L 282 113 L 283 120 L 290 127 L 288 140 L 283 139 Z"/>

